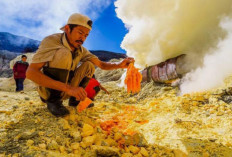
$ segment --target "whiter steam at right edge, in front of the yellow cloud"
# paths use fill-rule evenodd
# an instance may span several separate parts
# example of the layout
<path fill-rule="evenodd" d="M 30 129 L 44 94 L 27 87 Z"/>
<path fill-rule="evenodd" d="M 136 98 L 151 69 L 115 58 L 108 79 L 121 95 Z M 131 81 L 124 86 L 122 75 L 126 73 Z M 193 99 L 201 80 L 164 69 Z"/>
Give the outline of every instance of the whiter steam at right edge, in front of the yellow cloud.
<path fill-rule="evenodd" d="M 229 33 L 227 38 L 220 41 L 217 48 L 204 57 L 202 67 L 183 78 L 181 94 L 216 88 L 232 74 L 232 19 L 223 21 L 222 27 Z"/>

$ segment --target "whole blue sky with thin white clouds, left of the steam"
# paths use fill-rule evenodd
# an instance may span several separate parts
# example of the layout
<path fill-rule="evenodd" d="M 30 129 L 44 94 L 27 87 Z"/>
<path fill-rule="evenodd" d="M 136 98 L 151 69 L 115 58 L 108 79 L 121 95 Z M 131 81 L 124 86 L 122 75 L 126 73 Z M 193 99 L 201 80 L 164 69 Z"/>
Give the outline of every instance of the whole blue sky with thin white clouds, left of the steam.
<path fill-rule="evenodd" d="M 60 33 L 72 13 L 82 13 L 93 20 L 93 29 L 84 46 L 89 50 L 126 51 L 120 44 L 127 34 L 117 18 L 115 0 L 0 0 L 0 32 L 42 40 Z"/>

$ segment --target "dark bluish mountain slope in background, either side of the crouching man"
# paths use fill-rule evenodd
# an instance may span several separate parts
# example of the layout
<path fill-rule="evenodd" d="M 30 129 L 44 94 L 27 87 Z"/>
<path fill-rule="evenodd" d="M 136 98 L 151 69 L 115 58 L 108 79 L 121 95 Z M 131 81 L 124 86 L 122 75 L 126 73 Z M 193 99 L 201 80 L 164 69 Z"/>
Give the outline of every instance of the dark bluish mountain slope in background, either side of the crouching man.
<path fill-rule="evenodd" d="M 40 41 L 37 40 L 0 32 L 0 77 L 11 77 L 10 61 L 23 53 L 35 52 L 39 44 Z M 102 61 L 126 57 L 125 54 L 110 51 L 90 50 L 90 52 Z"/>

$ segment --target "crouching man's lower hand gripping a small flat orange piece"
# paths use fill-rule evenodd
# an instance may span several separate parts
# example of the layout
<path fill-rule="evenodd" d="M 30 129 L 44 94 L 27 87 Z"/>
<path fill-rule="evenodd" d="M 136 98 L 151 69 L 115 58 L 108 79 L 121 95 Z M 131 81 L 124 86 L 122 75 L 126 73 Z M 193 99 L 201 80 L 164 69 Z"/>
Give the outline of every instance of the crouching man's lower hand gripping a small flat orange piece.
<path fill-rule="evenodd" d="M 83 101 L 87 97 L 85 89 L 82 87 L 68 86 L 66 93 L 70 96 L 76 97 L 76 100 Z"/>

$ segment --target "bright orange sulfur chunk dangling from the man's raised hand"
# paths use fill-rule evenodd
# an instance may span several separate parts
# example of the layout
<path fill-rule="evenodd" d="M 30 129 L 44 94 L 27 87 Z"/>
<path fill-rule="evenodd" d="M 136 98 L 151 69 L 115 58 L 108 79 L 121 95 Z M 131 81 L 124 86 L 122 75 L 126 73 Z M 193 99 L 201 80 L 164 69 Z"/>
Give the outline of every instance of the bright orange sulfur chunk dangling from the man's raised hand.
<path fill-rule="evenodd" d="M 124 80 L 124 83 L 127 85 L 127 92 L 138 93 L 141 90 L 141 81 L 142 74 L 139 72 L 139 69 L 135 68 L 133 63 L 130 63 L 127 68 L 126 79 Z"/>

